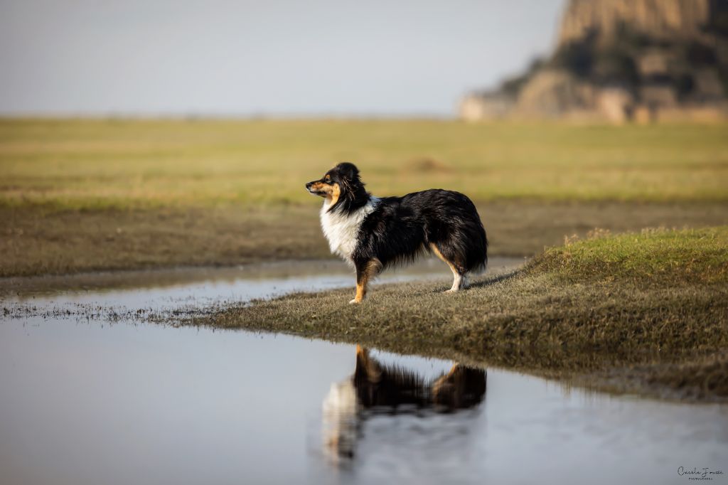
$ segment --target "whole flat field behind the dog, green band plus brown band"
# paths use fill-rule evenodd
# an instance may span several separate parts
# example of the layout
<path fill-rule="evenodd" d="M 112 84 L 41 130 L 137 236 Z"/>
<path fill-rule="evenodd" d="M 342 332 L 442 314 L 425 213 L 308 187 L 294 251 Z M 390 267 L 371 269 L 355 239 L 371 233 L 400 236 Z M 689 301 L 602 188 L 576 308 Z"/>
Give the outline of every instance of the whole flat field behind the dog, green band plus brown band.
<path fill-rule="evenodd" d="M 320 258 L 303 184 L 475 200 L 492 251 L 595 227 L 728 224 L 728 125 L 0 120 L 0 276 Z"/>

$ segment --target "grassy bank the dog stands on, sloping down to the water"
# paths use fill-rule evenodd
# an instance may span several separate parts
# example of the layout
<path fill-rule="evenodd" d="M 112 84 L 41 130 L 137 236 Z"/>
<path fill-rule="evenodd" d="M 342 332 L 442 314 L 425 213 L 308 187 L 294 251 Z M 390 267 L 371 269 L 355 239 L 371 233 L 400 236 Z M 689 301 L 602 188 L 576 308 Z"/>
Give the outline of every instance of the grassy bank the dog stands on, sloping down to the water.
<path fill-rule="evenodd" d="M 448 282 L 300 293 L 196 323 L 521 368 L 601 388 L 728 398 L 728 227 L 551 248 L 455 295 Z"/>

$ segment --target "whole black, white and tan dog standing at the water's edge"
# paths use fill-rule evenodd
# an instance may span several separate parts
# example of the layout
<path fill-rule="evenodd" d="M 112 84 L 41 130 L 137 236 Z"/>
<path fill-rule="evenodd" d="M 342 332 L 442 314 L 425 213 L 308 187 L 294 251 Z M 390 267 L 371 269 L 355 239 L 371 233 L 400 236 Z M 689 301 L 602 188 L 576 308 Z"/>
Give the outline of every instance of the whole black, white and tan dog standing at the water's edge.
<path fill-rule="evenodd" d="M 454 276 L 448 291 L 466 288 L 468 275 L 488 263 L 486 231 L 464 194 L 430 189 L 373 197 L 351 163 L 336 165 L 306 189 L 325 199 L 321 227 L 331 252 L 356 268 L 357 293 L 350 303 L 364 299 L 369 281 L 382 269 L 422 253 L 448 264 Z"/>

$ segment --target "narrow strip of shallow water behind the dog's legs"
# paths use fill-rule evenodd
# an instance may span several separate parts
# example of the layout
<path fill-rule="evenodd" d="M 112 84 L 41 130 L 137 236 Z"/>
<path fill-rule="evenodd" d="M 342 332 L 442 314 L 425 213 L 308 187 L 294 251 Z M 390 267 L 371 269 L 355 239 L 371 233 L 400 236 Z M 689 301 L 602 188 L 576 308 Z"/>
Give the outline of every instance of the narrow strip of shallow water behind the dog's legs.
<path fill-rule="evenodd" d="M 523 264 L 521 258 L 491 258 L 488 275 L 508 272 Z M 442 281 L 450 288 L 452 276 L 443 262 L 423 259 L 408 267 L 389 270 L 376 285 L 411 280 Z M 78 313 L 90 306 L 106 312 L 133 313 L 135 309 L 170 312 L 202 309 L 292 291 L 352 288 L 354 270 L 340 261 L 280 261 L 236 268 L 185 268 L 154 271 L 89 273 L 71 277 L 28 277 L 0 280 L 7 292 L 0 302 L 5 307 L 38 307 Z M 47 312 L 43 312 L 45 314 Z"/>

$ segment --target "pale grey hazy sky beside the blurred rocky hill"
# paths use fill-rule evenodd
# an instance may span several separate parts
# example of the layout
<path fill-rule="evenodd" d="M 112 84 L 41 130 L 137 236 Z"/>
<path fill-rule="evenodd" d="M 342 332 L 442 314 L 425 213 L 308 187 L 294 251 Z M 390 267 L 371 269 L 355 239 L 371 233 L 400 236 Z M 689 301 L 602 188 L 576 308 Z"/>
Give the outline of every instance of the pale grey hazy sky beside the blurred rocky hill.
<path fill-rule="evenodd" d="M 451 115 L 564 0 L 0 0 L 0 114 Z"/>

